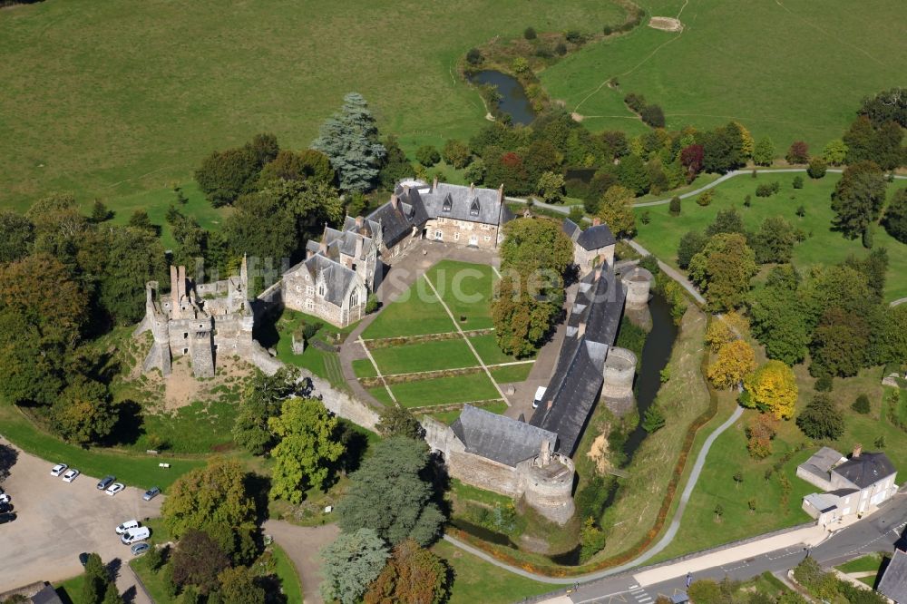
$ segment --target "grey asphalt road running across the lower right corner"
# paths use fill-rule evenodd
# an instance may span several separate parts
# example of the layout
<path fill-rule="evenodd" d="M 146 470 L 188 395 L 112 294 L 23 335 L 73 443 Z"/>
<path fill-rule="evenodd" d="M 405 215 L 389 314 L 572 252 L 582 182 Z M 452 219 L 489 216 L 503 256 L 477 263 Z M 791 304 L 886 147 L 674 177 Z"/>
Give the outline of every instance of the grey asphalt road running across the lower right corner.
<path fill-rule="evenodd" d="M 893 551 L 895 544 L 904 548 L 907 529 L 907 494 L 896 495 L 880 511 L 851 526 L 837 531 L 809 551 L 824 567 L 842 564 L 866 553 Z M 763 572 L 784 572 L 806 556 L 805 546 L 772 550 L 694 573 L 692 580 L 752 579 Z M 574 604 L 610 604 L 613 602 L 652 604 L 659 595 L 672 596 L 686 587 L 685 576 L 642 586 L 633 574 L 610 577 L 580 585 L 570 595 Z"/>

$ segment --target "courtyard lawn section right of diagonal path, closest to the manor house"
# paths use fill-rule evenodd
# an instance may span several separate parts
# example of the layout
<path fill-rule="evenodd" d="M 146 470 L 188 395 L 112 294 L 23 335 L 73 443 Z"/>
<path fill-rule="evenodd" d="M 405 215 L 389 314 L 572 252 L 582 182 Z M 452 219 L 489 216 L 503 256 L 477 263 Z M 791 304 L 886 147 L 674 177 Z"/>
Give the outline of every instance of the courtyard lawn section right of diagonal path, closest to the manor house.
<path fill-rule="evenodd" d="M 487 329 L 492 327 L 492 294 L 495 275 L 485 264 L 442 260 L 428 271 L 444 304 L 462 329 Z"/>

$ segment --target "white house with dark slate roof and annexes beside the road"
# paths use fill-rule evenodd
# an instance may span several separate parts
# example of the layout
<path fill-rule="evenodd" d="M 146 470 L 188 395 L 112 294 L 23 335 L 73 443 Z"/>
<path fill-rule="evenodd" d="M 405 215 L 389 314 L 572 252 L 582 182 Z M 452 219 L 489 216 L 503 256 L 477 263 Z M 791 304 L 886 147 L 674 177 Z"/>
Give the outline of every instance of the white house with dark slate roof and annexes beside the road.
<path fill-rule="evenodd" d="M 873 511 L 894 495 L 897 470 L 885 453 L 863 453 L 857 445 L 850 459 L 829 447 L 797 466 L 797 476 L 823 489 L 803 499 L 803 509 L 820 526 L 853 514 Z"/>

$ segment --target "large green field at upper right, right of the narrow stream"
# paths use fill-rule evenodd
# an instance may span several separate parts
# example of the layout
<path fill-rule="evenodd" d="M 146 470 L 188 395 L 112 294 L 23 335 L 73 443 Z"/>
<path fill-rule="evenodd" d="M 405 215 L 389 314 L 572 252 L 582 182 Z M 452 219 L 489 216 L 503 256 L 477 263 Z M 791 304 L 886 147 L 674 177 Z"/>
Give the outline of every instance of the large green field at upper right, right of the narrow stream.
<path fill-rule="evenodd" d="M 649 15 L 679 15 L 683 32 L 638 27 L 541 73 L 551 97 L 594 131 L 643 132 L 623 103 L 642 93 L 661 105 L 669 128 L 737 120 L 756 138 L 772 137 L 779 155 L 795 140 L 817 151 L 840 138 L 863 96 L 903 84 L 907 6 L 899 0 L 859 10 L 845 0 L 639 5 Z M 618 88 L 602 85 L 611 77 Z"/>

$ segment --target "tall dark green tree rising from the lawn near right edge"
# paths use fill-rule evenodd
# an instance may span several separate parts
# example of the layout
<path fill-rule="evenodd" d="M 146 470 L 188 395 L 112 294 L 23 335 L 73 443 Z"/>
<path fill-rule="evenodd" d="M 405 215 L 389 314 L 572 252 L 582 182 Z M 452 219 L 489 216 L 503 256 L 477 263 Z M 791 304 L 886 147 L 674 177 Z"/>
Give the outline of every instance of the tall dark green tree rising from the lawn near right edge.
<path fill-rule="evenodd" d="M 879 219 L 885 189 L 882 170 L 872 161 L 847 166 L 832 193 L 835 228 L 848 239 L 862 235 L 870 223 Z"/>

